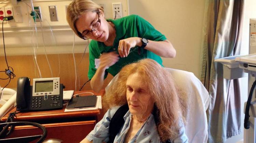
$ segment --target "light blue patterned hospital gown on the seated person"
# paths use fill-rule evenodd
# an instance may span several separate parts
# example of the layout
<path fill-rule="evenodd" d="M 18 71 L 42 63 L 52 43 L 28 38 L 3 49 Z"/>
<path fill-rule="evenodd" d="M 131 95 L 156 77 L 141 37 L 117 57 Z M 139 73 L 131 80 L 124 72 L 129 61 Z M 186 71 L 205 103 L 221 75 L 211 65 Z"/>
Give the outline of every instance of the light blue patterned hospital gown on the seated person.
<path fill-rule="evenodd" d="M 109 109 L 102 120 L 96 124 L 94 130 L 88 135 L 89 141 L 93 140 L 94 143 L 108 142 L 109 141 L 109 124 L 110 120 L 115 114 L 119 107 L 113 107 Z M 125 114 L 125 123 L 119 133 L 117 133 L 114 143 L 124 142 L 126 133 L 128 132 L 131 124 L 132 115 L 130 111 Z M 188 141 L 185 134 L 184 124 L 180 122 L 179 136 L 176 139 L 170 139 L 172 143 L 186 143 Z M 141 126 L 139 131 L 130 139 L 129 143 L 161 143 L 160 137 L 158 136 L 157 127 L 154 120 L 154 115 L 151 114 L 147 121 Z"/>

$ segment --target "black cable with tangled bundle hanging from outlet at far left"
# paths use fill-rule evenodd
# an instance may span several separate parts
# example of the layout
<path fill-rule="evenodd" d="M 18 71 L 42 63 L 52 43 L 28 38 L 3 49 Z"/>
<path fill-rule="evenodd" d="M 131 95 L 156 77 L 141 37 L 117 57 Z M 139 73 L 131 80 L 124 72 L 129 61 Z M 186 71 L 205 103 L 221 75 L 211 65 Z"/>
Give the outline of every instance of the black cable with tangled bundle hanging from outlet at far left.
<path fill-rule="evenodd" d="M 4 20 L 3 20 L 3 22 L 4 22 Z M 3 33 L 3 22 L 2 22 L 2 33 Z M 13 73 L 13 68 L 10 67 L 10 66 L 8 65 L 8 62 L 7 62 L 6 52 L 5 52 L 5 44 L 4 44 L 4 34 L 3 34 L 3 49 L 4 49 L 4 57 L 5 57 L 5 62 L 6 62 L 6 65 L 7 65 L 7 69 L 5 69 L 5 71 L 0 71 L 0 72 L 5 72 L 5 74 L 8 76 L 8 78 L 0 78 L 0 79 L 2 79 L 2 80 L 10 79 L 9 82 L 8 82 L 8 84 L 9 84 L 10 81 L 11 81 L 11 79 L 14 79 L 15 74 Z M 6 84 L 6 85 L 3 87 L 3 89 L 4 89 L 8 84 Z M 2 89 L 2 90 L 3 90 L 3 89 Z M 0 99 L 1 99 L 1 98 L 2 98 L 2 94 L 0 95 Z"/>

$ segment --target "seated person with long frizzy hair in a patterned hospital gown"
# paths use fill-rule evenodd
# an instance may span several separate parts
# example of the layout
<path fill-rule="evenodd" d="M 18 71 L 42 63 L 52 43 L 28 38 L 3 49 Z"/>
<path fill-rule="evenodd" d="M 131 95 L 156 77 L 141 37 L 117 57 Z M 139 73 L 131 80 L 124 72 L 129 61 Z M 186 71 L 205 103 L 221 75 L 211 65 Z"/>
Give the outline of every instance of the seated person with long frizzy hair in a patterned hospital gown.
<path fill-rule="evenodd" d="M 184 108 L 173 79 L 154 60 L 144 59 L 122 68 L 103 97 L 103 105 L 110 109 L 82 142 L 188 141 Z"/>

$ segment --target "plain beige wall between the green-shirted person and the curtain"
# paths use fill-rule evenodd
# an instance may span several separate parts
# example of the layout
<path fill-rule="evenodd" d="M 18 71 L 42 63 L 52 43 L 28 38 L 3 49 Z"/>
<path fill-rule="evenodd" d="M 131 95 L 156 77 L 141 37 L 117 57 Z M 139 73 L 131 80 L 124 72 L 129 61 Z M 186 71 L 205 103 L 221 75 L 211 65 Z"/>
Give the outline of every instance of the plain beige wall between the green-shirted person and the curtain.
<path fill-rule="evenodd" d="M 129 13 L 145 18 L 173 44 L 176 57 L 163 58 L 165 67 L 199 78 L 204 4 L 205 0 L 129 0 Z"/>

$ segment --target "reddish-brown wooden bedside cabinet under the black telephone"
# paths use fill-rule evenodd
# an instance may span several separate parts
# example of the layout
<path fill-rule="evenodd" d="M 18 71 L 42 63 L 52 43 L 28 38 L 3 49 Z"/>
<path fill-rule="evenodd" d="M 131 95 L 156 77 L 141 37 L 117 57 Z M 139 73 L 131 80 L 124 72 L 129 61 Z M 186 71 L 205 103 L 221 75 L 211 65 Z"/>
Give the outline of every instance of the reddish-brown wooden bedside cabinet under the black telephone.
<path fill-rule="evenodd" d="M 77 91 L 74 94 L 82 92 L 92 92 L 95 95 L 103 95 L 104 90 L 99 93 L 93 91 Z M 81 94 L 90 95 L 90 94 Z M 101 120 L 98 118 L 101 110 L 64 112 L 66 105 L 59 110 L 19 112 L 14 121 L 28 121 L 42 124 L 47 129 L 46 139 L 60 139 L 64 143 L 76 143 L 84 139 L 87 134 L 93 130 L 94 126 Z M 10 112 L 14 112 L 13 109 Z M 10 113 L 9 112 L 9 113 Z M 1 118 L 1 122 L 7 120 L 8 114 Z M 101 117 L 101 116 L 100 116 Z M 42 134 L 39 128 L 33 126 L 16 126 L 8 138 L 25 137 Z"/>

